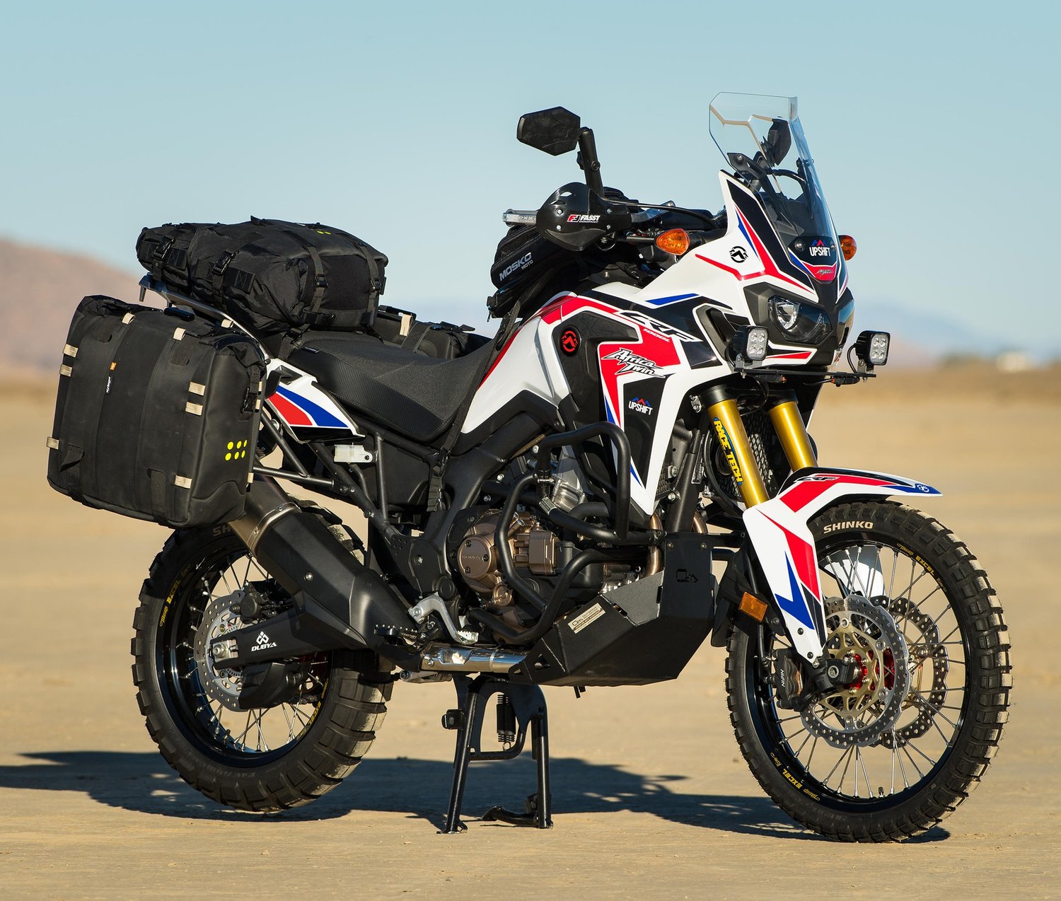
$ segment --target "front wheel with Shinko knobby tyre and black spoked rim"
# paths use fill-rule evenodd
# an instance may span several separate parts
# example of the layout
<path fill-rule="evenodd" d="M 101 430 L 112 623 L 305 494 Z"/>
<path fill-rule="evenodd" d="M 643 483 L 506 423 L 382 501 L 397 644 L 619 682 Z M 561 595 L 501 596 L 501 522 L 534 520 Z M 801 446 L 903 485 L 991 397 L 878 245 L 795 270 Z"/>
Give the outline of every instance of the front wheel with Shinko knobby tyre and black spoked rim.
<path fill-rule="evenodd" d="M 799 822 L 839 841 L 902 841 L 950 815 L 997 748 L 1011 685 L 1002 607 L 969 549 L 918 510 L 847 503 L 810 527 L 824 653 L 859 675 L 786 709 L 775 677 L 790 642 L 735 628 L 730 718 L 752 774 Z"/>

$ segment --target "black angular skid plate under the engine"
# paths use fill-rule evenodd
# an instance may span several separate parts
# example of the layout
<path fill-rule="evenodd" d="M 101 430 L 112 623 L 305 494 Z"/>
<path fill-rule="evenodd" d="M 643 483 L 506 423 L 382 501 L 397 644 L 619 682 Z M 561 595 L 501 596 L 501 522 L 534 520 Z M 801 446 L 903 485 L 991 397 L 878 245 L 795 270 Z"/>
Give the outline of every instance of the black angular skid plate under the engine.
<path fill-rule="evenodd" d="M 711 550 L 709 535 L 667 535 L 662 572 L 564 614 L 511 671 L 512 680 L 641 686 L 676 678 L 714 623 Z"/>

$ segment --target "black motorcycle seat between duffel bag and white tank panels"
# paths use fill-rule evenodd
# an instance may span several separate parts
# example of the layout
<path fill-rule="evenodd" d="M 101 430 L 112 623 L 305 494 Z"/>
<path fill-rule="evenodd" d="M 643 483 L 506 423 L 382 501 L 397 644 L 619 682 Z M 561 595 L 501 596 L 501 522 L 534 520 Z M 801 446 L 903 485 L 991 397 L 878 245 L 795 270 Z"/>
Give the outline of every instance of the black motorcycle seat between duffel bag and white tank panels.
<path fill-rule="evenodd" d="M 337 400 L 417 441 L 439 437 L 474 391 L 487 343 L 455 360 L 437 360 L 353 332 L 308 332 L 290 362 Z"/>

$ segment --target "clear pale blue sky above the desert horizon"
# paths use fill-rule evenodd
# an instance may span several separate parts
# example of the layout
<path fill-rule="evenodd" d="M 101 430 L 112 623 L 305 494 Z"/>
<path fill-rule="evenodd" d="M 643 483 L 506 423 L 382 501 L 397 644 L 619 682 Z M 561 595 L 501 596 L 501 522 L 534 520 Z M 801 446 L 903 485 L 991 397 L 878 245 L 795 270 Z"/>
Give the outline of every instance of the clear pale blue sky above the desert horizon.
<path fill-rule="evenodd" d="M 711 98 L 796 94 L 858 328 L 1061 354 L 1058 10 L 8 4 L 0 235 L 135 272 L 144 225 L 321 221 L 390 257 L 385 302 L 482 324 L 502 211 L 580 175 L 517 143 L 520 114 L 564 105 L 606 184 L 716 208 Z"/>

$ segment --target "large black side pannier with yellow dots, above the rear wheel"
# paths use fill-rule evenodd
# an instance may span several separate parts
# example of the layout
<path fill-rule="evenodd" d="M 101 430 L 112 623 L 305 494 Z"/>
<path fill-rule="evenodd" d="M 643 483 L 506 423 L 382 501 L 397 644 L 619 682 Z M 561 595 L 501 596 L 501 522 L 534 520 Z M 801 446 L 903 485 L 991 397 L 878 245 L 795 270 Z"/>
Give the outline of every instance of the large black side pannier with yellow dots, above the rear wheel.
<path fill-rule="evenodd" d="M 87 506 L 173 527 L 238 519 L 264 378 L 241 332 L 86 297 L 63 348 L 48 481 Z"/>

